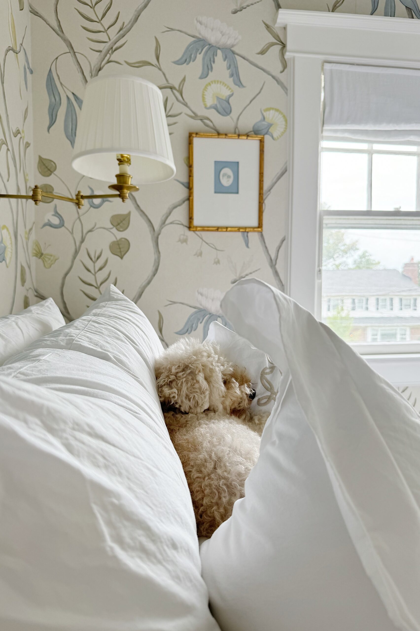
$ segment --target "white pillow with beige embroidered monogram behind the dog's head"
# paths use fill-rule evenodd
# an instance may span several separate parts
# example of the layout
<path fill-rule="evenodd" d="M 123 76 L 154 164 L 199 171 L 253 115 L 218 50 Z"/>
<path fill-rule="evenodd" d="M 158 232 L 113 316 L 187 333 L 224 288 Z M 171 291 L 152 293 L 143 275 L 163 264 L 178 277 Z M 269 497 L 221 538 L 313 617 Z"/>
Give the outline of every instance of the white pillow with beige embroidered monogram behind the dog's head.
<path fill-rule="evenodd" d="M 255 348 L 247 339 L 220 322 L 211 322 L 206 341 L 216 342 L 229 362 L 247 369 L 257 393 L 250 406 L 252 413 L 270 413 L 279 392 L 281 372 L 267 353 Z"/>

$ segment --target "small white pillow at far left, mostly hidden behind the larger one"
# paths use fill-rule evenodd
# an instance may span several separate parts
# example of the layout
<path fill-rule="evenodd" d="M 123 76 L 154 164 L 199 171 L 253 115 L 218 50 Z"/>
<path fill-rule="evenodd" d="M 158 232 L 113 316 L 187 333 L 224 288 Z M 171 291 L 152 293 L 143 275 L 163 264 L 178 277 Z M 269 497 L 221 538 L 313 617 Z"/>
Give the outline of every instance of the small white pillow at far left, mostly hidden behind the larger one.
<path fill-rule="evenodd" d="M 0 366 L 35 339 L 64 326 L 66 321 L 52 298 L 19 314 L 0 317 Z"/>

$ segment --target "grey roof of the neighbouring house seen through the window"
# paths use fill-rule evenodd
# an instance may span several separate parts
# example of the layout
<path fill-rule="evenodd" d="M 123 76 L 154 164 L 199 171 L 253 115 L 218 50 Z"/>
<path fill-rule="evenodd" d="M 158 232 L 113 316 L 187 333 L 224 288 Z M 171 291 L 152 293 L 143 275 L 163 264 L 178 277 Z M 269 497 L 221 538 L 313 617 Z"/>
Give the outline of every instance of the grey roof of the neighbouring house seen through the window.
<path fill-rule="evenodd" d="M 398 269 L 325 269 L 325 296 L 419 295 L 420 287 Z"/>

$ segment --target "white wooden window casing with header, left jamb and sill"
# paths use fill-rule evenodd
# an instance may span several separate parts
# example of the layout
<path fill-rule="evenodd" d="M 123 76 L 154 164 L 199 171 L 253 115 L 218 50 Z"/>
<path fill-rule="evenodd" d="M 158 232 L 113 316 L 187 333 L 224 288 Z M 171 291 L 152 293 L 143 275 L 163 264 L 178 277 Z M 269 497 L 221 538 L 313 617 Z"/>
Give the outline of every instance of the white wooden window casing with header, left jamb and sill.
<path fill-rule="evenodd" d="M 286 27 L 289 71 L 286 292 L 320 318 L 323 217 L 318 182 L 323 64 L 420 69 L 420 28 L 417 20 L 405 18 L 288 9 L 279 10 L 276 25 Z M 408 213 L 395 212 L 409 224 L 416 211 L 407 217 Z M 395 385 L 420 384 L 420 353 L 407 353 L 404 343 L 354 348 Z"/>

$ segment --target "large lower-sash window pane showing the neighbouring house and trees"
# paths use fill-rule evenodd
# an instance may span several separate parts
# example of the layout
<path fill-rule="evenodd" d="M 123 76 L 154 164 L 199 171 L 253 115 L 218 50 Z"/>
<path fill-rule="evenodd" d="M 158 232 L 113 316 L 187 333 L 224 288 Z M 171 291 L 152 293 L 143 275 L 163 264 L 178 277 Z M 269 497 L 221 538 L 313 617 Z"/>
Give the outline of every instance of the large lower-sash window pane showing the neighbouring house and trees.
<path fill-rule="evenodd" d="M 420 345 L 420 230 L 324 228 L 323 240 L 322 320 L 350 343 Z"/>

